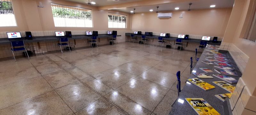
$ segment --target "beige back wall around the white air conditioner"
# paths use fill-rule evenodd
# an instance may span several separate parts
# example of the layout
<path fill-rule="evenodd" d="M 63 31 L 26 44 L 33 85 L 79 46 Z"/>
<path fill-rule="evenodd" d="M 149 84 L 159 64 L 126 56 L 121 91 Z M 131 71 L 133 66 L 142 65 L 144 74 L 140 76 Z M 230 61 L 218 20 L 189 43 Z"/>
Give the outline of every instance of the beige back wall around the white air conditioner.
<path fill-rule="evenodd" d="M 157 18 L 157 13 L 132 15 L 132 30 L 223 36 L 232 8 L 172 12 L 172 18 Z M 180 14 L 183 18 L 179 18 Z"/>

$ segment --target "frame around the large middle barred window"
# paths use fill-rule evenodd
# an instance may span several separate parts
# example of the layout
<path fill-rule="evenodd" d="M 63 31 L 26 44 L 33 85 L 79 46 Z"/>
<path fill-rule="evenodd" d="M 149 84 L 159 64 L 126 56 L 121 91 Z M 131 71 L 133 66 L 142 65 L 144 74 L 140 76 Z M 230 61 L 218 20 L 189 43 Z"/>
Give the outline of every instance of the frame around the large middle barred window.
<path fill-rule="evenodd" d="M 56 4 L 56 3 L 51 3 L 51 9 L 52 9 L 52 5 L 60 5 L 60 6 L 66 6 L 66 7 L 71 7 L 71 8 L 75 8 L 76 9 L 85 9 L 85 10 L 90 10 L 92 12 L 92 9 L 88 9 L 88 8 L 82 8 L 82 7 L 76 7 L 76 6 L 70 6 L 70 5 L 63 5 L 63 4 Z M 70 8 L 68 8 L 70 9 Z M 54 22 L 54 14 L 52 12 L 52 18 L 53 18 L 53 23 L 54 23 L 54 27 L 77 27 L 77 28 L 93 28 L 93 15 L 91 13 L 91 17 L 92 17 L 92 27 L 77 27 L 77 26 L 55 26 L 55 22 Z M 75 19 L 75 18 L 74 18 Z M 66 20 L 66 17 L 65 17 Z M 66 23 L 66 21 L 65 21 Z"/>

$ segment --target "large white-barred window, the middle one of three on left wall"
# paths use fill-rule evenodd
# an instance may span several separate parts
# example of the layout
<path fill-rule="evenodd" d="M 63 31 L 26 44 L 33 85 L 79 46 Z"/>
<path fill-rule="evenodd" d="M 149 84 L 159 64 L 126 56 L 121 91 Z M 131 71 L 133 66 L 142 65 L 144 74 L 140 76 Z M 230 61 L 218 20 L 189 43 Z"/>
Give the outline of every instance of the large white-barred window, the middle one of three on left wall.
<path fill-rule="evenodd" d="M 52 3 L 52 15 L 55 27 L 93 27 L 91 9 Z"/>

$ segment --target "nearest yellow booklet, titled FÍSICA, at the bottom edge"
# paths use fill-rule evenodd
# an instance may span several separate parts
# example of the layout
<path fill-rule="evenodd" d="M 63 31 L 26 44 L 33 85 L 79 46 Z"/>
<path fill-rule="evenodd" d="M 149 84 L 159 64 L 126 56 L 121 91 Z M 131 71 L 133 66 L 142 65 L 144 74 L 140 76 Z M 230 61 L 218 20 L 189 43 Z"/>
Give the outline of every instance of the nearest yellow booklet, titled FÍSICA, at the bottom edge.
<path fill-rule="evenodd" d="M 193 107 L 198 115 L 220 115 L 220 113 L 203 98 L 186 98 L 186 101 Z"/>

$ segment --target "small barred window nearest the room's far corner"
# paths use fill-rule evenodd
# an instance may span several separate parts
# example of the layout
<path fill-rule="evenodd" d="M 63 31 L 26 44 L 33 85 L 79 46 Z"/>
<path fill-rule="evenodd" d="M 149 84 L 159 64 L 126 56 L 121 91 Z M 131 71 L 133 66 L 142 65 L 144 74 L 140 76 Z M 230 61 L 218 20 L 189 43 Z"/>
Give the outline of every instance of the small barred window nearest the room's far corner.
<path fill-rule="evenodd" d="M 108 12 L 108 28 L 126 28 L 126 15 Z"/>

